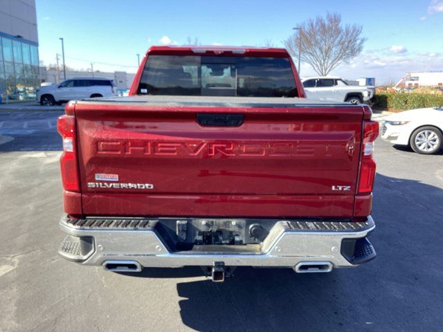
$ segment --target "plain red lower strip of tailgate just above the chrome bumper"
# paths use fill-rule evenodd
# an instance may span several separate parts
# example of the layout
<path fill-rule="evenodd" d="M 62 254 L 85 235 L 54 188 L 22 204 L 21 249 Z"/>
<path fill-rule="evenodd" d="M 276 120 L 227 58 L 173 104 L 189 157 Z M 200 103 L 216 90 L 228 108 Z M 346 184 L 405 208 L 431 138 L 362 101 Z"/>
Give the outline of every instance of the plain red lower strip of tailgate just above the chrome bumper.
<path fill-rule="evenodd" d="M 231 194 L 82 195 L 83 212 L 93 216 L 213 216 L 347 218 L 353 196 Z"/>

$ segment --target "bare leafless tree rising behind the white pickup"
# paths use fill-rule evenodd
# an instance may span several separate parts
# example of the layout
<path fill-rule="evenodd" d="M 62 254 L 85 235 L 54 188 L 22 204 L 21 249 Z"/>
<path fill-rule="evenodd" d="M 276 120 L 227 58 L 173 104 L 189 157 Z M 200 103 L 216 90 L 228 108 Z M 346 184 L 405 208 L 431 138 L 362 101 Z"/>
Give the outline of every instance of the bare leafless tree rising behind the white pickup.
<path fill-rule="evenodd" d="M 283 44 L 293 57 L 298 56 L 301 39 L 301 60 L 310 64 L 318 75 L 325 76 L 343 62 L 347 63 L 363 50 L 366 38 L 362 26 L 341 24 L 341 16 L 327 13 L 302 22 Z"/>

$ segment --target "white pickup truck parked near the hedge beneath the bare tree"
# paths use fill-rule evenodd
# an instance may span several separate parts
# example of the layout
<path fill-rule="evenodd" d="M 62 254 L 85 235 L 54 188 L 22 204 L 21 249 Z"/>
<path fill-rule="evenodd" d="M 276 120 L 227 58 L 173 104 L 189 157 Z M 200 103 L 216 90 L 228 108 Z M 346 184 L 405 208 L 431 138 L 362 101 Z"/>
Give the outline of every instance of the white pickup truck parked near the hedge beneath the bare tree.
<path fill-rule="evenodd" d="M 302 77 L 308 99 L 361 104 L 374 95 L 369 86 L 349 85 L 338 76 Z"/>

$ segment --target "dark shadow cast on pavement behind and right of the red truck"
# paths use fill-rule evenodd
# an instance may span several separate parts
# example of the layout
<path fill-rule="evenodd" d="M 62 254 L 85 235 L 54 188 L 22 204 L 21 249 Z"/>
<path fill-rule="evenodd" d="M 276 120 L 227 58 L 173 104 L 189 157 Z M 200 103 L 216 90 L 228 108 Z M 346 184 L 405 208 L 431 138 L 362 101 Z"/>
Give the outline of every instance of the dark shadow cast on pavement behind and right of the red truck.
<path fill-rule="evenodd" d="M 432 197 L 433 201 L 429 201 Z M 377 174 L 371 241 L 378 257 L 332 273 L 237 268 L 232 279 L 179 282 L 183 324 L 197 331 L 435 331 L 443 326 L 443 190 Z M 199 268 L 138 277 L 194 277 Z"/>

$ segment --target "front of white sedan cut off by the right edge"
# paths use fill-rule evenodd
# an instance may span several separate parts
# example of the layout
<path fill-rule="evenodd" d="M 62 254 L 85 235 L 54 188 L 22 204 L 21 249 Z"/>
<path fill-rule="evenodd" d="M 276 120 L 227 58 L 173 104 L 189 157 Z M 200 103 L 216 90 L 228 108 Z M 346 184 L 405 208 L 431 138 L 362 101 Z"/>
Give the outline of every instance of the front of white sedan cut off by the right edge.
<path fill-rule="evenodd" d="M 443 142 L 443 107 L 411 109 L 384 118 L 381 138 L 409 145 L 419 154 L 436 154 Z"/>

